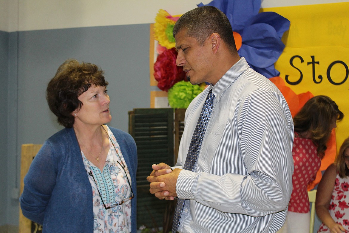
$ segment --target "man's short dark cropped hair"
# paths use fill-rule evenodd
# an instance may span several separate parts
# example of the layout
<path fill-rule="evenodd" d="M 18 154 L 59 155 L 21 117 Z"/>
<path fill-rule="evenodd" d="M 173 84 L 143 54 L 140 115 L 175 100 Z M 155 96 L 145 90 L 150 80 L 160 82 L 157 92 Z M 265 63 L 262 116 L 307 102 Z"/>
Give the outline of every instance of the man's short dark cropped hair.
<path fill-rule="evenodd" d="M 194 37 L 200 45 L 216 32 L 232 52 L 237 51 L 228 17 L 216 7 L 202 6 L 182 15 L 174 24 L 173 37 L 182 30 L 187 30 L 186 36 Z"/>

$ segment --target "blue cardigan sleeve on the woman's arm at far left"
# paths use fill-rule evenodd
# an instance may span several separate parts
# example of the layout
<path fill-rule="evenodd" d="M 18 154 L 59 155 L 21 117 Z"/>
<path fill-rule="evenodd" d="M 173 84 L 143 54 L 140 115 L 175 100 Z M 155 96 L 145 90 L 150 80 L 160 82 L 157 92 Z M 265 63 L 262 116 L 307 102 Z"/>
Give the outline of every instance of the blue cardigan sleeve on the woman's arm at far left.
<path fill-rule="evenodd" d="M 24 189 L 20 197 L 23 215 L 39 224 L 44 222 L 45 209 L 57 177 L 52 155 L 51 146 L 46 141 L 24 177 Z"/>

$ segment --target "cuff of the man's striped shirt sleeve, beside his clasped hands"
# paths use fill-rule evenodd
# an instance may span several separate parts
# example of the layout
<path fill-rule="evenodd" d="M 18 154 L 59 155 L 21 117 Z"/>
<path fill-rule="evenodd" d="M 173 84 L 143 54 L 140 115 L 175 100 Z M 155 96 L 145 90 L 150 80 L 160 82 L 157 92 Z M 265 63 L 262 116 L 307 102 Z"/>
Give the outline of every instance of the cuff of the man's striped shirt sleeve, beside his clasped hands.
<path fill-rule="evenodd" d="M 176 184 L 177 197 L 181 199 L 194 199 L 193 183 L 198 174 L 188 170 L 181 170 Z"/>

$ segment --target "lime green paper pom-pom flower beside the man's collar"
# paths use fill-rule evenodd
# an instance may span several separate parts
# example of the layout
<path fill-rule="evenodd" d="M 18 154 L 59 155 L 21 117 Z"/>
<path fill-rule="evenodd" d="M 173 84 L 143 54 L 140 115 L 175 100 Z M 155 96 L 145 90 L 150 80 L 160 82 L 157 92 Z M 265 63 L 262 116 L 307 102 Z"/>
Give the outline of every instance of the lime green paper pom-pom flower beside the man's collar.
<path fill-rule="evenodd" d="M 187 108 L 190 102 L 204 89 L 205 87 L 192 85 L 184 80 L 179 81 L 169 89 L 169 104 L 172 108 Z"/>

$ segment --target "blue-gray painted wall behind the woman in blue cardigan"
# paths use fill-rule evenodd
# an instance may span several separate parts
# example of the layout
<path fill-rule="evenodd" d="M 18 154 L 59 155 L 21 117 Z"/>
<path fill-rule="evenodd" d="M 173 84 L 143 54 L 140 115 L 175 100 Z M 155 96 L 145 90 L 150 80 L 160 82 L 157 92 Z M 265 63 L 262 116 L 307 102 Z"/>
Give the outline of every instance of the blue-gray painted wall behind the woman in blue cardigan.
<path fill-rule="evenodd" d="M 7 170 L 8 175 L 7 213 L 0 210 L 1 216 L 7 214 L 10 225 L 18 225 L 18 201 L 11 198 L 11 192 L 19 186 L 21 145 L 42 144 L 62 129 L 47 106 L 45 89 L 63 61 L 76 58 L 97 64 L 105 71 L 113 117 L 109 125 L 126 132 L 128 111 L 149 108 L 150 90 L 158 90 L 149 86 L 149 24 L 20 31 L 18 38 L 10 37 L 10 43 L 17 40 L 18 51 L 13 49 L 10 55 L 16 57 L 18 53 L 18 61 L 13 61 L 18 64 L 18 75 L 10 67 L 8 78 L 9 90 L 18 90 L 17 108 L 8 108 L 11 115 L 17 115 L 9 124 L 9 128 L 16 131 L 7 134 L 15 142 L 9 143 L 7 158 L 10 161 L 4 172 Z M 18 85 L 11 81 L 16 80 L 16 76 Z M 9 94 L 10 99 L 12 95 Z"/>

